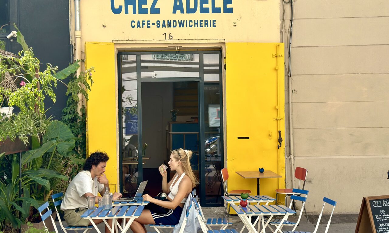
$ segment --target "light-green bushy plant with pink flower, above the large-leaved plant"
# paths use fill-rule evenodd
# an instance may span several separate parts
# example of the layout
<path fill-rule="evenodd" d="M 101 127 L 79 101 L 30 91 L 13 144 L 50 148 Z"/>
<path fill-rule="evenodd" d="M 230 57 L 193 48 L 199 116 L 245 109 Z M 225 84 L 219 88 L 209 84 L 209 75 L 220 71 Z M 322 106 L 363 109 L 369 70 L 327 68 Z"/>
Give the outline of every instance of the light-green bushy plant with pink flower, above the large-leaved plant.
<path fill-rule="evenodd" d="M 14 26 L 18 29 L 16 25 Z M 34 57 L 32 48 L 28 48 L 19 30 L 18 42 L 23 47 L 23 51 L 19 52 L 20 58 L 0 55 L 0 82 L 8 73 L 13 82 L 11 85 L 13 87 L 0 85 L 0 107 L 7 103 L 10 107 L 16 106 L 20 110 L 17 115 L 9 118 L 0 116 L 0 141 L 4 141 L 7 137 L 13 141 L 19 137 L 27 144 L 27 135 L 36 136 L 46 131 L 49 119 L 44 115 L 44 99 L 48 96 L 55 103 L 56 95 L 53 87 L 56 87 L 57 80 L 60 81 L 56 77 L 62 79 L 67 73 L 74 73 L 79 67 L 79 61 L 58 73 L 56 73 L 58 67 L 47 63 L 46 70 L 41 72 L 39 59 Z M 73 87 L 73 89 L 77 88 L 82 89 L 82 87 Z"/>

